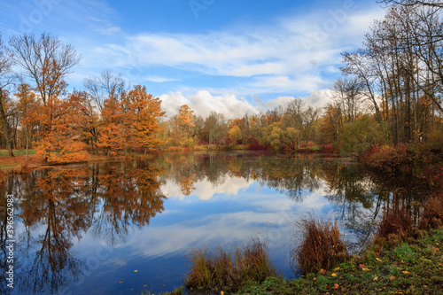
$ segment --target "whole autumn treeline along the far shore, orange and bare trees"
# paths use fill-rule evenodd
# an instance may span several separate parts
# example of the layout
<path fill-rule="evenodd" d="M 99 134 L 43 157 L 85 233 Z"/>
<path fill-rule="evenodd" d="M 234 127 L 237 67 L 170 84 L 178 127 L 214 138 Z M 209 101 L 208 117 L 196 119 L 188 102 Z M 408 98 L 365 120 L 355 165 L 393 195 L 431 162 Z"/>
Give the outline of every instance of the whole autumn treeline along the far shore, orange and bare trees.
<path fill-rule="evenodd" d="M 323 149 L 364 154 L 374 147 L 443 148 L 442 5 L 384 1 L 359 50 L 344 52 L 342 79 L 324 108 L 294 98 L 260 114 L 206 118 L 188 105 L 167 117 L 143 85 L 104 70 L 68 92 L 81 57 L 58 37 L 0 35 L 0 147 L 35 149 L 49 162 L 89 154 L 194 149 Z M 378 149 L 377 151 L 387 151 Z M 423 149 L 420 151 L 424 151 Z"/>

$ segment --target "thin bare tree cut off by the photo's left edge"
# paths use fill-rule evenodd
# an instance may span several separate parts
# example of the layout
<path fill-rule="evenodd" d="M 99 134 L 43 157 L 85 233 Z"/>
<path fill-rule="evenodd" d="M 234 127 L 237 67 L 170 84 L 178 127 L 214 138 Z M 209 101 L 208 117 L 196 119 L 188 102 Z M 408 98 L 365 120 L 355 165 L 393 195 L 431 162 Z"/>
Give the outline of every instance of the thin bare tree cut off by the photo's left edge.
<path fill-rule="evenodd" d="M 2 35 L 0 34 L 0 118 L 4 129 L 4 138 L 6 140 L 6 148 L 8 149 L 8 155 L 14 156 L 12 152 L 12 140 L 10 134 L 10 128 L 5 113 L 5 101 L 8 96 L 7 87 L 12 84 L 12 58 L 4 46 Z"/>

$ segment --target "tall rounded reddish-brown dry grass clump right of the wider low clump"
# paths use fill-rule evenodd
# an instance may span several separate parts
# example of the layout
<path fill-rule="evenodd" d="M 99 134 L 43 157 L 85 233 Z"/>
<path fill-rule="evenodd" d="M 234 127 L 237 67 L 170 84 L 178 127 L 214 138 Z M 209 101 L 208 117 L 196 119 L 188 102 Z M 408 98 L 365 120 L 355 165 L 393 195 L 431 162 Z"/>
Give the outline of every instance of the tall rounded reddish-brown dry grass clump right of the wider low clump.
<path fill-rule="evenodd" d="M 331 268 L 346 259 L 346 245 L 340 237 L 337 221 L 319 221 L 310 217 L 299 222 L 301 243 L 291 252 L 291 264 L 306 275 Z"/>

